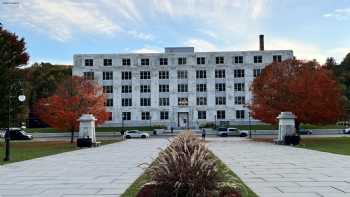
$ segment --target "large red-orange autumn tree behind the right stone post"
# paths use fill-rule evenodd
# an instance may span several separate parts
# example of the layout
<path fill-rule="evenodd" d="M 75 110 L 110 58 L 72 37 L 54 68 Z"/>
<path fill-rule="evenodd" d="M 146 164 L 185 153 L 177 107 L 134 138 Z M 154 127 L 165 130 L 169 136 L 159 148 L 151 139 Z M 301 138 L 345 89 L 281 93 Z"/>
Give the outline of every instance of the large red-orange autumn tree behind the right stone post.
<path fill-rule="evenodd" d="M 343 114 L 341 91 L 333 74 L 316 61 L 286 60 L 266 66 L 252 83 L 252 116 L 276 123 L 291 111 L 299 123 L 334 123 Z"/>

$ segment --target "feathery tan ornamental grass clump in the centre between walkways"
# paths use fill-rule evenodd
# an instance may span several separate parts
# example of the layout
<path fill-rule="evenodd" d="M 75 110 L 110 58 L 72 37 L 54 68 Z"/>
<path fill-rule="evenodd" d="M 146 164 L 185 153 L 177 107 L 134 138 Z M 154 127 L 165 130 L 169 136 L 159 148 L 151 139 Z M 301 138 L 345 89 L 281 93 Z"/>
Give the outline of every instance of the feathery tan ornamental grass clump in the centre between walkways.
<path fill-rule="evenodd" d="M 191 132 L 174 138 L 159 154 L 150 174 L 157 193 L 167 196 L 212 196 L 222 180 L 207 145 Z"/>

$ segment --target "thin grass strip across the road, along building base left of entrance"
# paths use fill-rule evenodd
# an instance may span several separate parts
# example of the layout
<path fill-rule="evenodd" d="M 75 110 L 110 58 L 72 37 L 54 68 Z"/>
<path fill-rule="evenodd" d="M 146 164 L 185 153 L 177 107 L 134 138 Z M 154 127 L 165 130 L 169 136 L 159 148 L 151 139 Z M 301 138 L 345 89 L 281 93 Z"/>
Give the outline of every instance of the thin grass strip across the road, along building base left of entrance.
<path fill-rule="evenodd" d="M 124 127 L 124 130 L 141 130 L 141 131 L 153 131 L 154 129 L 161 129 L 163 126 L 152 126 L 152 127 Z M 96 132 L 120 132 L 121 127 L 97 127 Z M 62 132 L 55 128 L 27 128 L 29 133 L 57 133 Z M 68 131 L 65 131 L 68 132 Z"/>

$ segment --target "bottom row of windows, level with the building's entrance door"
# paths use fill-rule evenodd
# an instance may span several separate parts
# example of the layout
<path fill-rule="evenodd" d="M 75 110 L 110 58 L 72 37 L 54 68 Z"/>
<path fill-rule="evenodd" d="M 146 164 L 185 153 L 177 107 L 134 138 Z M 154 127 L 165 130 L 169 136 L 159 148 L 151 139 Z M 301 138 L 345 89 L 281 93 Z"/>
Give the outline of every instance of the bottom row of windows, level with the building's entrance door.
<path fill-rule="evenodd" d="M 207 111 L 197 111 L 197 117 L 200 120 L 207 119 Z M 216 119 L 224 120 L 226 119 L 226 111 L 225 110 L 217 110 L 216 111 Z M 245 111 L 244 110 L 236 110 L 236 119 L 244 119 Z M 141 120 L 151 120 L 151 113 L 149 111 L 141 112 Z M 159 112 L 160 120 L 169 120 L 169 111 L 160 111 Z M 113 120 L 112 112 L 109 112 L 109 120 Z M 122 112 L 122 120 L 131 120 L 131 112 Z"/>

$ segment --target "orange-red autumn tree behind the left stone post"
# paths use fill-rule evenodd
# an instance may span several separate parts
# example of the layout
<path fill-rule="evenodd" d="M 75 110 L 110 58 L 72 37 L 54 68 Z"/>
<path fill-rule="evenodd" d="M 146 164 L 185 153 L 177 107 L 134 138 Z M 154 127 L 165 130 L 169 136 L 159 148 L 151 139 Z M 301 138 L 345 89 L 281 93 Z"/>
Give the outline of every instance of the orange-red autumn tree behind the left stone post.
<path fill-rule="evenodd" d="M 34 109 L 40 120 L 49 126 L 70 131 L 73 143 L 82 114 L 93 114 L 97 118 L 96 125 L 108 119 L 105 100 L 103 89 L 96 82 L 73 76 L 63 80 L 52 96 L 35 103 Z"/>

